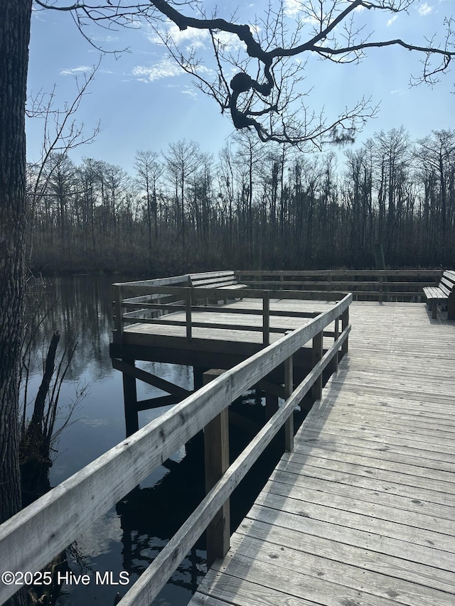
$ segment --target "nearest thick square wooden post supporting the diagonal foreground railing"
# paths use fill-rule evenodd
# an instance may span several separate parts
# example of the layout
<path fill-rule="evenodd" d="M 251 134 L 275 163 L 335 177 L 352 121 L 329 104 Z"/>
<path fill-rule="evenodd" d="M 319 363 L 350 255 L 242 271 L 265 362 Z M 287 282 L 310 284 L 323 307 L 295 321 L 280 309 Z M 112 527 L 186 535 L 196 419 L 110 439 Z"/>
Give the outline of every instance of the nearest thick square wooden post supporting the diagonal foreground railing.
<path fill-rule="evenodd" d="M 203 374 L 207 384 L 218 377 L 221 370 L 208 370 Z M 209 492 L 229 467 L 229 411 L 228 407 L 215 416 L 204 428 L 205 492 Z M 207 568 L 216 558 L 224 558 L 230 548 L 229 499 L 207 527 Z"/>

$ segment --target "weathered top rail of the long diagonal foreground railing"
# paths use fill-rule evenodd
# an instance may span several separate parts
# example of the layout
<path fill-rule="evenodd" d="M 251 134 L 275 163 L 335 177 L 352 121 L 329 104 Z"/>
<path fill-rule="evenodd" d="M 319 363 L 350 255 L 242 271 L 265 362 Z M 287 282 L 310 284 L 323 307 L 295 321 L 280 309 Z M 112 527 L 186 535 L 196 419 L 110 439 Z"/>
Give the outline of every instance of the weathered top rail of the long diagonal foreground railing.
<path fill-rule="evenodd" d="M 348 293 L 331 309 L 229 369 L 4 522 L 0 571 L 45 566 L 246 389 L 347 312 L 352 300 Z M 0 586 L 0 600 L 11 591 Z"/>

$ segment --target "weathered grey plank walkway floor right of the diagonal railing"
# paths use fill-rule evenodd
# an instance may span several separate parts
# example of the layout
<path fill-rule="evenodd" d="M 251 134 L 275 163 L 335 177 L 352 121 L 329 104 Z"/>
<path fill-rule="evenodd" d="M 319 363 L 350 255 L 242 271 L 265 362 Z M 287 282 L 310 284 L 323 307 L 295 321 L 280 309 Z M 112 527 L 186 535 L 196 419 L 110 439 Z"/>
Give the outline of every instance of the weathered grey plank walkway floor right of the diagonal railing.
<path fill-rule="evenodd" d="M 455 323 L 354 303 L 349 355 L 191 606 L 454 606 Z"/>

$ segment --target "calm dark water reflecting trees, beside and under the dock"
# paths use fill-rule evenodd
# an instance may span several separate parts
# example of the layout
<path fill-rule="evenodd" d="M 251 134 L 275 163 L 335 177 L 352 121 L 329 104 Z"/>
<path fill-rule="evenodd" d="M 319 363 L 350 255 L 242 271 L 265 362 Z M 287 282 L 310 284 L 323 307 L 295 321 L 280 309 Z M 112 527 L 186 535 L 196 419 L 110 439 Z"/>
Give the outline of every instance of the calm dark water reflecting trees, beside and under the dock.
<path fill-rule="evenodd" d="M 116 276 L 115 280 L 119 279 Z M 52 302 L 55 305 L 34 343 L 28 399 L 33 399 L 41 382 L 43 350 L 48 347 L 53 330 L 60 331 L 62 345 L 70 332 L 75 332 L 78 340 L 60 395 L 60 423 L 77 392 L 82 387 L 87 389 L 87 395 L 73 413 L 73 422 L 63 431 L 58 442 L 58 455 L 50 468 L 52 486 L 73 475 L 125 437 L 122 374 L 112 369 L 109 358 L 112 281 L 109 277 L 57 278 L 48 281 L 45 288 L 47 305 Z M 187 389 L 193 388 L 191 368 L 147 362 L 142 363 L 142 367 Z M 137 382 L 137 388 L 138 399 L 162 395 L 158 389 L 141 382 Z M 143 426 L 165 410 L 141 412 L 139 423 Z M 69 556 L 71 570 L 79 574 L 82 566 L 84 573 L 112 571 L 114 578 L 120 571 L 127 570 L 134 581 L 194 509 L 193 502 L 197 504 L 197 499 L 200 499 L 203 489 L 200 459 L 200 444 L 194 440 L 176 453 L 171 461 L 155 470 L 129 499 L 97 519 L 90 530 L 77 540 L 77 556 Z M 185 507 L 176 506 L 182 502 L 190 507 L 188 511 Z M 201 544 L 183 561 L 154 605 L 186 605 L 204 572 L 205 551 Z M 95 585 L 93 582 L 84 588 L 71 586 L 64 588 L 58 605 L 110 606 L 114 604 L 117 590 L 126 593 L 122 587 Z"/>

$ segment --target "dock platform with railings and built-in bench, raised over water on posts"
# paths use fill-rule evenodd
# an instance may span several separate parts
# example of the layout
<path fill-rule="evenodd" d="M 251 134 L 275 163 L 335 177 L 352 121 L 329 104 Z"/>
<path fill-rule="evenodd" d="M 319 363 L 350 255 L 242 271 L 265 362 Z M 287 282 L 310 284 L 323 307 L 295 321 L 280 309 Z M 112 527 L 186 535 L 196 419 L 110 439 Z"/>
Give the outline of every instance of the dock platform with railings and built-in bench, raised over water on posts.
<path fill-rule="evenodd" d="M 137 431 L 139 411 L 176 404 L 190 393 L 138 369 L 137 360 L 192 366 L 196 390 L 206 370 L 235 367 L 343 298 L 342 292 L 250 288 L 233 271 L 114 284 L 110 354 L 114 368 L 123 373 L 127 433 Z M 347 312 L 339 325 L 341 330 L 348 325 Z M 323 332 L 321 352 L 333 344 L 338 330 L 334 325 Z M 314 363 L 313 347 L 307 343 L 293 356 L 296 380 L 303 379 Z M 137 379 L 168 395 L 137 401 Z M 284 398 L 283 384 L 281 364 L 260 385 L 269 403 Z"/>

